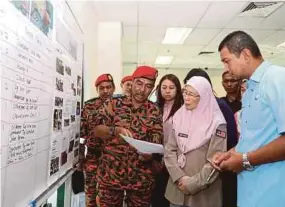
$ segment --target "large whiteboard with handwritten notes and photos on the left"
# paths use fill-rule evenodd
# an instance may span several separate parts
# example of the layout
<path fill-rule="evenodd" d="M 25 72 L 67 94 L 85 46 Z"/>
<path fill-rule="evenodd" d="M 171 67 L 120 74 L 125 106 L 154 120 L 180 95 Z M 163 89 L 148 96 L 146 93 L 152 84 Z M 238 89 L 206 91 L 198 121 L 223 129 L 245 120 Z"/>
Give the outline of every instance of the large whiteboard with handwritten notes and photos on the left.
<path fill-rule="evenodd" d="M 0 1 L 2 207 L 28 206 L 78 159 L 82 42 L 57 31 L 60 8 Z"/>

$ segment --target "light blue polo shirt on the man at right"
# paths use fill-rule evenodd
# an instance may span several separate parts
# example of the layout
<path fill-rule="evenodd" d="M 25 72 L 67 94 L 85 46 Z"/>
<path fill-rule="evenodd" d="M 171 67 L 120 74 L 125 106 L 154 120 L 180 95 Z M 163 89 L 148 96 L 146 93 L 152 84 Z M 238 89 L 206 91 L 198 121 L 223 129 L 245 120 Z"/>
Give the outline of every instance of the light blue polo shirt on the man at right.
<path fill-rule="evenodd" d="M 285 132 L 285 68 L 264 61 L 248 81 L 242 100 L 241 137 L 245 153 Z M 285 206 L 285 161 L 257 166 L 238 175 L 239 207 Z"/>

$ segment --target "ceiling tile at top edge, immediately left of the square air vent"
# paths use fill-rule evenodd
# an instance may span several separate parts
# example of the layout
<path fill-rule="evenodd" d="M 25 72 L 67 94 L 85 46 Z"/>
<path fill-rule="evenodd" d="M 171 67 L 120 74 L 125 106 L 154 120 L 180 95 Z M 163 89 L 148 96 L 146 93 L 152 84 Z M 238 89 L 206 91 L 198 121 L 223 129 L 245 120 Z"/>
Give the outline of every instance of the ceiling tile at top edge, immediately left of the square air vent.
<path fill-rule="evenodd" d="M 224 28 L 248 2 L 213 2 L 197 27 L 199 28 Z"/>

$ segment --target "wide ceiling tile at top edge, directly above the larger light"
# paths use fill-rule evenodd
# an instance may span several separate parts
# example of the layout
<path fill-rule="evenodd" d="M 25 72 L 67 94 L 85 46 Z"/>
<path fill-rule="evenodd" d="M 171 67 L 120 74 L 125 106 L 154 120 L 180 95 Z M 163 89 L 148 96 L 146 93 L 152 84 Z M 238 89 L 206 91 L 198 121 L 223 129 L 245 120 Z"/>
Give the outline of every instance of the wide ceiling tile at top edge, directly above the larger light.
<path fill-rule="evenodd" d="M 210 2 L 140 2 L 139 24 L 168 27 L 194 27 L 205 13 Z"/>

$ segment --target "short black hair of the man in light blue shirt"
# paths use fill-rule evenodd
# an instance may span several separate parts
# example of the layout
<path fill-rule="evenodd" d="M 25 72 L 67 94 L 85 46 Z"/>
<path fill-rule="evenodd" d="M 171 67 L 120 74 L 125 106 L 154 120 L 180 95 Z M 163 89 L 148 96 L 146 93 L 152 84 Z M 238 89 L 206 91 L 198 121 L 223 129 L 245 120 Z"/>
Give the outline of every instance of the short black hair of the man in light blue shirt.
<path fill-rule="evenodd" d="M 219 52 L 228 48 L 230 53 L 240 56 L 244 49 L 248 49 L 255 58 L 261 57 L 261 52 L 254 39 L 244 31 L 235 31 L 228 34 L 219 45 Z"/>

